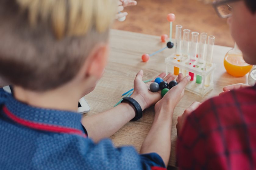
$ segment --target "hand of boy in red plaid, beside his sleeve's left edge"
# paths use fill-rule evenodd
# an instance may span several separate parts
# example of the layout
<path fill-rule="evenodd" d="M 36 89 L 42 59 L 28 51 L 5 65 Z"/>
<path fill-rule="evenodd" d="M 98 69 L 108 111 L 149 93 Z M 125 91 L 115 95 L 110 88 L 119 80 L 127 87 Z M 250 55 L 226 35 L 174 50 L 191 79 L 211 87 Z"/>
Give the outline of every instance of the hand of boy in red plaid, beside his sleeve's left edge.
<path fill-rule="evenodd" d="M 190 105 L 190 107 L 188 107 L 184 113 L 178 117 L 178 123 L 176 124 L 176 128 L 177 128 L 177 135 L 179 136 L 180 131 L 187 119 L 187 116 L 190 115 L 194 110 L 197 109 L 197 107 L 199 107 L 201 105 L 201 103 L 199 102 L 194 102 L 193 104 Z"/>

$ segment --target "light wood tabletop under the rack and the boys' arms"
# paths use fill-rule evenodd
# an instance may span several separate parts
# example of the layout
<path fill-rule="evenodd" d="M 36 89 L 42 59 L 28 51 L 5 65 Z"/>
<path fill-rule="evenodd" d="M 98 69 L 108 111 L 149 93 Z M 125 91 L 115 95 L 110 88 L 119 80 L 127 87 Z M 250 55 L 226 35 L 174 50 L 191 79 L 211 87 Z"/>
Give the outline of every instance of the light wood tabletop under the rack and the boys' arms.
<path fill-rule="evenodd" d="M 218 39 L 218 37 L 216 37 Z M 120 99 L 121 94 L 133 87 L 133 80 L 137 72 L 144 71 L 144 80 L 154 78 L 161 72 L 165 72 L 165 58 L 174 49 L 165 49 L 163 52 L 150 58 L 147 63 L 141 61 L 144 53 L 153 53 L 166 46 L 160 42 L 160 37 L 145 35 L 134 32 L 111 30 L 110 34 L 110 56 L 105 73 L 98 82 L 95 90 L 85 96 L 91 111 L 85 116 L 90 116 L 112 108 Z M 217 64 L 214 74 L 214 89 L 205 95 L 204 98 L 185 91 L 185 96 L 174 110 L 172 120 L 172 147 L 169 165 L 175 166 L 176 149 L 176 123 L 177 117 L 194 101 L 204 100 L 218 95 L 222 88 L 233 83 L 246 83 L 247 78 L 235 78 L 226 73 L 223 66 L 223 59 L 230 47 L 215 46 L 213 62 Z M 116 146 L 133 145 L 137 151 L 148 134 L 154 118 L 154 107 L 144 110 L 143 117 L 136 122 L 129 122 L 117 131 L 112 137 Z"/>

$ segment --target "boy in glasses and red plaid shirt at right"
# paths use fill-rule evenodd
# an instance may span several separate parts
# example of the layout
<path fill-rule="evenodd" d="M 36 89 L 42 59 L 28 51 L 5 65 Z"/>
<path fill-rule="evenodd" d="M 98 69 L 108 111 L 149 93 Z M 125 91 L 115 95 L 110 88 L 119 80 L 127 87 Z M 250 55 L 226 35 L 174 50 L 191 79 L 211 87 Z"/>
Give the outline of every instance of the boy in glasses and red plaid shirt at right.
<path fill-rule="evenodd" d="M 244 60 L 256 64 L 256 1 L 213 4 L 219 16 L 229 18 Z M 178 117 L 180 169 L 256 169 L 256 86 L 235 84 L 223 91 L 203 104 L 193 103 Z"/>

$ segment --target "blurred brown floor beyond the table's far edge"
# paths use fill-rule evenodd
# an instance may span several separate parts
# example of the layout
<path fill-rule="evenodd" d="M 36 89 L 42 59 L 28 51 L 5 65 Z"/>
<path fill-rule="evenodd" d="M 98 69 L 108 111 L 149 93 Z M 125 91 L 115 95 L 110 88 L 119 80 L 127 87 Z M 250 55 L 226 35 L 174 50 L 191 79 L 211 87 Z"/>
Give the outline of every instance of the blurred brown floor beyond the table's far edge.
<path fill-rule="evenodd" d="M 126 7 L 128 16 L 124 22 L 116 21 L 112 28 L 144 34 L 169 36 L 167 14 L 174 13 L 172 37 L 175 38 L 175 25 L 184 29 L 206 32 L 216 37 L 216 44 L 234 46 L 226 19 L 218 17 L 211 3 L 203 0 L 137 0 L 137 6 Z"/>

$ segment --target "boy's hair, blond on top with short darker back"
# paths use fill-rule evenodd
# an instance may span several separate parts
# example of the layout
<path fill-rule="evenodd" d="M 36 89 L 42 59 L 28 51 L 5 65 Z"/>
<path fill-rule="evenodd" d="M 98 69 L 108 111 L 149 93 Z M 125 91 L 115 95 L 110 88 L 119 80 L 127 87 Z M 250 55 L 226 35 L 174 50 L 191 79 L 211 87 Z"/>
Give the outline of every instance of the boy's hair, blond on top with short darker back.
<path fill-rule="evenodd" d="M 28 90 L 70 81 L 108 40 L 116 0 L 1 0 L 0 76 Z"/>

